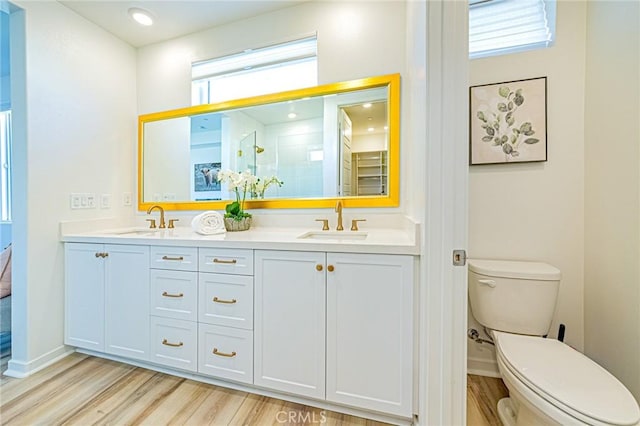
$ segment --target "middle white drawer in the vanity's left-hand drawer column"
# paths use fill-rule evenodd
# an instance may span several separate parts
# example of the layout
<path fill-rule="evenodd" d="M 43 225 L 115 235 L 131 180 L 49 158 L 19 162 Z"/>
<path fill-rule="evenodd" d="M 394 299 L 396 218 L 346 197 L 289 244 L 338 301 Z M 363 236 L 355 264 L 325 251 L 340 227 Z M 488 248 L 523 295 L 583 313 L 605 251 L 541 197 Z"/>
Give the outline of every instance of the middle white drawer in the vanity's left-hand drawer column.
<path fill-rule="evenodd" d="M 198 273 L 151 270 L 151 315 L 197 320 Z"/>

